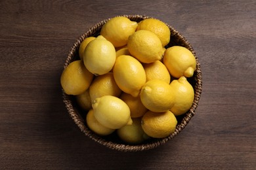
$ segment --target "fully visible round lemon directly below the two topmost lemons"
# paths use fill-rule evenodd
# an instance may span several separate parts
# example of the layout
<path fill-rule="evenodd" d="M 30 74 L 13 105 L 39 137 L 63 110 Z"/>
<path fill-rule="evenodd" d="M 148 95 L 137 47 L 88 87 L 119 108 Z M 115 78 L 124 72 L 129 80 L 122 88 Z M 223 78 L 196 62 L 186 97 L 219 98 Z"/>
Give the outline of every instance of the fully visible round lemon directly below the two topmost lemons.
<path fill-rule="evenodd" d="M 152 63 L 160 60 L 163 55 L 163 47 L 155 33 L 148 30 L 139 30 L 128 39 L 127 47 L 131 56 L 142 63 Z"/>

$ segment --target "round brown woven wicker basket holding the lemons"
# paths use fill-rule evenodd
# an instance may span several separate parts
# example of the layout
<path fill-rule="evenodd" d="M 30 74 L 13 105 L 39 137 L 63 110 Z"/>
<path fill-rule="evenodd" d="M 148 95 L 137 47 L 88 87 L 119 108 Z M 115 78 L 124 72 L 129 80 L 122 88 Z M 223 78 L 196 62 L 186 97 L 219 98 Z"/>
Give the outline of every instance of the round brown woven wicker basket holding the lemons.
<path fill-rule="evenodd" d="M 152 18 L 149 16 L 140 16 L 140 15 L 123 15 L 123 16 L 129 18 L 132 21 L 136 21 L 136 22 L 140 22 L 141 20 L 144 20 L 146 18 Z M 102 25 L 104 25 L 108 20 L 110 20 L 110 18 L 107 20 L 103 20 L 103 21 L 99 22 L 98 24 L 94 25 L 88 31 L 83 33 L 83 35 L 81 35 L 79 37 L 79 39 L 77 39 L 77 41 L 74 43 L 74 45 L 70 49 L 68 58 L 66 58 L 66 61 L 64 63 L 64 69 L 72 61 L 79 59 L 78 49 L 79 49 L 79 45 L 81 44 L 81 42 L 86 37 L 91 37 L 91 36 L 96 37 L 97 35 L 99 35 Z M 167 44 L 167 46 L 165 46 L 165 48 L 168 48 L 169 46 L 173 46 L 173 45 L 184 46 L 184 47 L 188 48 L 188 50 L 190 50 L 196 58 L 196 71 L 194 72 L 194 76 L 192 78 L 188 78 L 188 81 L 192 84 L 192 86 L 194 88 L 194 92 L 195 92 L 194 103 L 193 103 L 192 107 L 190 108 L 190 110 L 188 110 L 188 112 L 186 112 L 186 114 L 183 114 L 182 116 L 177 117 L 178 124 L 175 129 L 175 132 L 172 133 L 171 135 L 169 135 L 168 137 L 161 138 L 161 139 L 150 139 L 150 140 L 146 141 L 145 143 L 137 144 L 137 145 L 123 143 L 120 139 L 118 139 L 118 137 L 115 133 L 112 135 L 108 135 L 107 137 L 101 137 L 99 135 L 96 135 L 96 133 L 94 133 L 87 127 L 86 122 L 84 120 L 85 113 L 82 112 L 79 109 L 79 107 L 77 106 L 74 96 L 67 95 L 62 90 L 63 101 L 66 106 L 66 109 L 68 110 L 68 113 L 74 120 L 75 124 L 77 124 L 77 126 L 81 129 L 81 131 L 83 133 L 85 133 L 85 135 L 87 137 L 90 137 L 97 143 L 100 143 L 100 144 L 102 144 L 108 148 L 114 149 L 114 150 L 120 150 L 120 151 L 125 151 L 125 152 L 149 150 L 152 148 L 156 148 L 156 147 L 160 146 L 161 144 L 166 143 L 173 137 L 175 137 L 178 133 L 180 133 L 182 131 L 182 129 L 184 129 L 184 127 L 186 126 L 186 124 L 188 124 L 188 122 L 190 121 L 192 116 L 194 116 L 195 110 L 196 110 L 196 107 L 198 106 L 198 101 L 200 99 L 200 95 L 202 92 L 202 73 L 201 73 L 201 69 L 200 69 L 200 63 L 198 62 L 196 53 L 194 52 L 190 43 L 188 41 L 186 41 L 186 39 L 184 39 L 184 37 L 182 37 L 181 33 L 176 31 L 175 29 L 173 29 L 173 27 L 171 27 L 168 24 L 167 24 L 167 26 L 171 30 L 171 41 L 169 42 L 169 44 Z"/>

